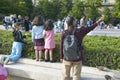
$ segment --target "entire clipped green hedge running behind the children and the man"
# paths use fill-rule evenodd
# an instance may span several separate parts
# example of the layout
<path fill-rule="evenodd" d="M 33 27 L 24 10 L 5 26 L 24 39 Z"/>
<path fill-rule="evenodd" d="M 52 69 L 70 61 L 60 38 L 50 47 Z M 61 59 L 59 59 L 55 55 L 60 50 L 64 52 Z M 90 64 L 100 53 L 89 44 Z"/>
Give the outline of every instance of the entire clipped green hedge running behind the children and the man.
<path fill-rule="evenodd" d="M 23 46 L 22 57 L 35 59 L 34 46 L 31 42 L 31 33 L 27 34 L 28 44 Z M 0 31 L 0 53 L 10 54 L 12 48 L 12 32 Z M 56 48 L 53 51 L 54 59 L 59 61 L 60 34 L 55 35 Z M 83 65 L 103 65 L 110 69 L 120 69 L 120 37 L 86 36 L 83 41 L 84 60 Z"/>

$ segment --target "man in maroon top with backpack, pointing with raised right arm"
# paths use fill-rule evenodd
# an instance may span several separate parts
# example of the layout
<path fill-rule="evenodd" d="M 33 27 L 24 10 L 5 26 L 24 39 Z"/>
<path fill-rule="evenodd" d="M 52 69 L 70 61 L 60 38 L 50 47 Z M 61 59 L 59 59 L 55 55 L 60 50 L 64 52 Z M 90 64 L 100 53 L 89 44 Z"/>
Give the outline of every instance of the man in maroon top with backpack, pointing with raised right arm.
<path fill-rule="evenodd" d="M 73 80 L 80 80 L 83 59 L 83 38 L 93 30 L 101 20 L 103 20 L 103 17 L 90 27 L 82 26 L 77 29 L 75 27 L 76 19 L 73 16 L 66 18 L 68 29 L 62 32 L 60 41 L 60 60 L 63 63 L 62 80 L 70 80 L 71 68 Z"/>

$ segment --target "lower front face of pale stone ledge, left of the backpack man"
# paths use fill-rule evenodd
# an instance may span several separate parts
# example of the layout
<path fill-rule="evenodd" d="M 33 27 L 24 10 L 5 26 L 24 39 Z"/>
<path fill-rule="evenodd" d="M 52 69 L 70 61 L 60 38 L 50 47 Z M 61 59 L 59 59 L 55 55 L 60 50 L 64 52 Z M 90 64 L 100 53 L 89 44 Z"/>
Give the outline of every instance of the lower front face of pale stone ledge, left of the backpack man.
<path fill-rule="evenodd" d="M 60 70 L 21 63 L 5 65 L 9 75 L 33 80 L 59 80 Z M 58 74 L 58 75 L 56 75 Z"/>

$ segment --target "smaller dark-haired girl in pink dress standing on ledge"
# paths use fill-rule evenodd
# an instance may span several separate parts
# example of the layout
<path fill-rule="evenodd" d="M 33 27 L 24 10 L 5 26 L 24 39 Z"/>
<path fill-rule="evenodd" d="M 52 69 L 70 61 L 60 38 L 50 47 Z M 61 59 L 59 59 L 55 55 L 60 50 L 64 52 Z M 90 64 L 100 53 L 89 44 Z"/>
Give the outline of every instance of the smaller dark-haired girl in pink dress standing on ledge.
<path fill-rule="evenodd" d="M 45 22 L 45 30 L 43 35 L 45 36 L 45 62 L 54 62 L 53 61 L 53 48 L 55 48 L 55 40 L 54 40 L 54 25 L 52 20 L 47 20 Z M 48 59 L 48 52 L 50 59 Z"/>

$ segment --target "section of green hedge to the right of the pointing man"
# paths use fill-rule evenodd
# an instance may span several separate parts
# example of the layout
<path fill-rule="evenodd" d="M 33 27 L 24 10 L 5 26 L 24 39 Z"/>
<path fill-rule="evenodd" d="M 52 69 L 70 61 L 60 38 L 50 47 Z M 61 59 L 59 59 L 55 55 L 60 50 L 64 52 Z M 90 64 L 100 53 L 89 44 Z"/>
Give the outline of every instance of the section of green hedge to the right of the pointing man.
<path fill-rule="evenodd" d="M 103 65 L 111 69 L 119 69 L 119 41 L 119 37 L 86 36 L 83 64 L 94 67 Z"/>

